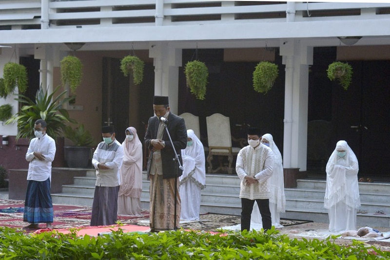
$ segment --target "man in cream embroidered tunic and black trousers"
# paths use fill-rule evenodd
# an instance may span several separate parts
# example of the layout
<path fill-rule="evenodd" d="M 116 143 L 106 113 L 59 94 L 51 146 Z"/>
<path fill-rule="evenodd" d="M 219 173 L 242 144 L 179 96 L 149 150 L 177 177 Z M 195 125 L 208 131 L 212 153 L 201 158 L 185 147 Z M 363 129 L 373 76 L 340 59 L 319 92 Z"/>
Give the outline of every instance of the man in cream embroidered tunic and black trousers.
<path fill-rule="evenodd" d="M 235 170 L 241 180 L 241 231 L 251 228 L 251 214 L 256 201 L 264 231 L 272 227 L 269 205 L 270 187 L 268 179 L 273 173 L 273 152 L 260 144 L 260 130 L 248 129 L 249 146 L 238 152 Z"/>

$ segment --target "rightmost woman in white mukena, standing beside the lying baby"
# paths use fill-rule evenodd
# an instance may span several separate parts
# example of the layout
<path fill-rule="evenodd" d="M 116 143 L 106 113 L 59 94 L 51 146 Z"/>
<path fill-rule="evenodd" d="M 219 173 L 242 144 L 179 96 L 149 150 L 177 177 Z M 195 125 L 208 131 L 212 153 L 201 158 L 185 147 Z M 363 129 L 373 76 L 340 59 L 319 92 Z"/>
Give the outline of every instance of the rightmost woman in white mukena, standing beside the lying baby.
<path fill-rule="evenodd" d="M 326 165 L 324 207 L 328 209 L 329 231 L 356 230 L 360 207 L 357 158 L 346 141 L 338 141 Z"/>

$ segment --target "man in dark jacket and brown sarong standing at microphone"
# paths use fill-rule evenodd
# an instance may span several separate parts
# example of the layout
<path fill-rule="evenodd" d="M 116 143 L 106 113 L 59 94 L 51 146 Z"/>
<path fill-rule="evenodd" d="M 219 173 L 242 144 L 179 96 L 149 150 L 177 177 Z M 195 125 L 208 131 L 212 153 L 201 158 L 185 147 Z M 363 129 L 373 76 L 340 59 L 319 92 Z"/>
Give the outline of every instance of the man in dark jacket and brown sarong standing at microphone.
<path fill-rule="evenodd" d="M 150 228 L 152 232 L 158 232 L 176 229 L 180 222 L 181 210 L 180 195 L 177 190 L 175 191 L 175 187 L 178 187 L 178 177 L 182 171 L 177 169 L 175 183 L 175 151 L 162 120 L 168 120 L 167 128 L 179 154 L 181 165 L 183 164 L 181 149 L 187 146 L 187 130 L 184 119 L 170 112 L 167 96 L 154 96 L 153 110 L 156 116 L 149 118 L 144 142 L 145 147 L 150 150 L 147 168 L 150 178 Z"/>

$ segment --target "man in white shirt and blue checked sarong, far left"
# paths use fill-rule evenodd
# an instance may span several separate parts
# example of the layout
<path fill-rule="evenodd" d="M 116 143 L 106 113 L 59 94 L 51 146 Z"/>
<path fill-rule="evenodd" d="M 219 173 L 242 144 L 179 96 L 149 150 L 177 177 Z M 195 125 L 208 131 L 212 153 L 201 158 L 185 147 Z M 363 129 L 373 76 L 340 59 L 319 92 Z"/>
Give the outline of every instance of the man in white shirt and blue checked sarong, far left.
<path fill-rule="evenodd" d="M 34 134 L 26 153 L 28 165 L 27 192 L 23 221 L 30 223 L 25 229 L 38 229 L 39 223 L 52 228 L 53 204 L 50 195 L 52 162 L 56 154 L 56 142 L 46 134 L 46 121 L 35 122 Z"/>

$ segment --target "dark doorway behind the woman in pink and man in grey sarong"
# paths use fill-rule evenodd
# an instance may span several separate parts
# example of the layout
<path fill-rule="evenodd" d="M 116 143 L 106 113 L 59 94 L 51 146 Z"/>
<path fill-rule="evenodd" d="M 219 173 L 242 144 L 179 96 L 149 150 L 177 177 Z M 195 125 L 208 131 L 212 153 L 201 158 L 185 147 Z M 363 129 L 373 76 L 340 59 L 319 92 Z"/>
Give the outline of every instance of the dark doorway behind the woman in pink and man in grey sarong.
<path fill-rule="evenodd" d="M 129 126 L 129 77 L 120 71 L 120 59 L 103 57 L 102 124 L 114 125 L 122 143 Z"/>

